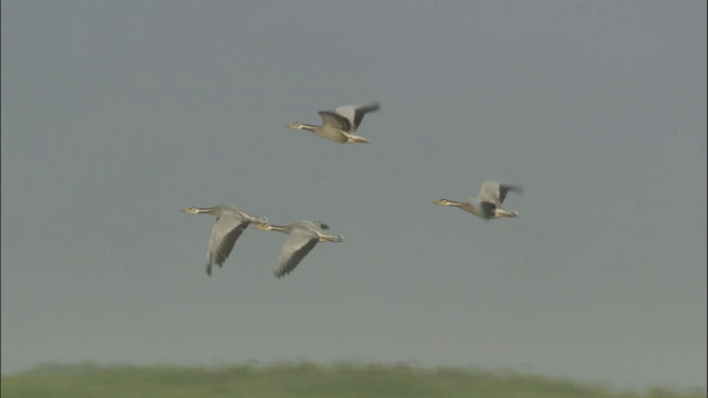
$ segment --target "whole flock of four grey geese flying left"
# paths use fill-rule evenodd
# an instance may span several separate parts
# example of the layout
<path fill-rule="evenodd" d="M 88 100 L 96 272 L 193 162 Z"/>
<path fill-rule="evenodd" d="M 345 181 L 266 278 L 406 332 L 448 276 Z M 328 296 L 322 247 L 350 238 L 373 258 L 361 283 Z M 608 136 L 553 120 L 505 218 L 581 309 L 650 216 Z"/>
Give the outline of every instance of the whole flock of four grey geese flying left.
<path fill-rule="evenodd" d="M 378 102 L 366 105 L 341 106 L 334 111 L 320 111 L 322 117 L 321 126 L 308 125 L 304 123 L 292 123 L 287 127 L 304 129 L 313 134 L 331 139 L 336 143 L 369 143 L 368 139 L 356 134 L 356 129 L 362 123 L 364 115 L 376 112 L 381 108 Z M 460 208 L 482 219 L 497 219 L 504 217 L 518 217 L 517 211 L 509 211 L 501 208 L 501 203 L 507 198 L 508 192 L 521 192 L 520 187 L 499 184 L 497 181 L 483 181 L 482 188 L 476 198 L 469 198 L 466 202 L 449 199 L 438 199 L 435 205 Z M 210 208 L 187 207 L 183 212 L 191 214 L 209 213 L 217 218 L 211 229 L 209 247 L 207 249 L 207 274 L 211 275 L 214 264 L 221 265 L 231 254 L 236 241 L 241 233 L 253 224 L 254 228 L 263 231 L 279 231 L 289 235 L 285 243 L 280 248 L 278 266 L 274 270 L 277 277 L 282 277 L 298 266 L 317 242 L 342 242 L 341 235 L 325 232 L 330 227 L 319 221 L 302 220 L 289 226 L 273 226 L 268 218 L 253 216 L 243 210 L 220 205 Z"/>

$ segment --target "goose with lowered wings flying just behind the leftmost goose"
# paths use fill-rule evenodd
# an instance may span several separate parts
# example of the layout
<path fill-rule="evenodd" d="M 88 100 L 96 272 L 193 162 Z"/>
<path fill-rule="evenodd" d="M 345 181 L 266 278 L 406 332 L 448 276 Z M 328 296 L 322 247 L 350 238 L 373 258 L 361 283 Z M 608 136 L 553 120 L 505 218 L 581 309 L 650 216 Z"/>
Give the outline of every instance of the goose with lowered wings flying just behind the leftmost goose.
<path fill-rule="evenodd" d="M 302 259 L 317 244 L 317 242 L 342 242 L 342 235 L 327 234 L 327 224 L 302 220 L 290 226 L 271 226 L 268 222 L 254 222 L 253 227 L 263 231 L 279 231 L 289 234 L 278 258 L 278 268 L 273 271 L 275 277 L 281 279 L 292 272 Z"/>

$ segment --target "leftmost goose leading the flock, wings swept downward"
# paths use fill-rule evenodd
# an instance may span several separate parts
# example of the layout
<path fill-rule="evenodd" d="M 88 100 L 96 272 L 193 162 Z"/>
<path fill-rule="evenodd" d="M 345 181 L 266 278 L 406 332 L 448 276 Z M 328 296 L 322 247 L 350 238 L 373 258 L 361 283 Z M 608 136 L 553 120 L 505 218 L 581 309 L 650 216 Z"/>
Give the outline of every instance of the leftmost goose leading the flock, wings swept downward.
<path fill-rule="evenodd" d="M 220 205 L 210 208 L 186 207 L 181 212 L 191 214 L 209 213 L 217 218 L 211 228 L 209 248 L 207 249 L 207 275 L 211 276 L 211 265 L 221 264 L 231 254 L 233 244 L 251 222 L 268 222 L 268 218 L 251 216 L 239 208 Z"/>

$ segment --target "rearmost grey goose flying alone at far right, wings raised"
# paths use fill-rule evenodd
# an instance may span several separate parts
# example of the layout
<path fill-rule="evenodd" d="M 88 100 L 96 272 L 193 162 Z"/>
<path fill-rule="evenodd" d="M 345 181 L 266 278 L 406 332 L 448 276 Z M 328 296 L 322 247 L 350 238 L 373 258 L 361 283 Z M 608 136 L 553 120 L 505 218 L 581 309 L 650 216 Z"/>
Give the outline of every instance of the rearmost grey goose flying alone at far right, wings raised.
<path fill-rule="evenodd" d="M 468 202 L 458 202 L 449 199 L 438 199 L 435 205 L 452 206 L 470 212 L 483 219 L 497 219 L 504 217 L 519 217 L 518 211 L 509 211 L 501 208 L 508 192 L 521 192 L 522 188 L 497 181 L 482 181 L 482 188 L 476 198 L 469 198 Z"/>

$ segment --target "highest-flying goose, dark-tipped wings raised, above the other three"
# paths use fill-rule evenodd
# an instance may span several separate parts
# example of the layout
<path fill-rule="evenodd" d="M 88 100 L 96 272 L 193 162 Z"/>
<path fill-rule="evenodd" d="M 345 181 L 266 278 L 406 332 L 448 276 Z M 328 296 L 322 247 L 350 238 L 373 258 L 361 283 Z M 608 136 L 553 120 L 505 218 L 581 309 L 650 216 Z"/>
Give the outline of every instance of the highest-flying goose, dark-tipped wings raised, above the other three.
<path fill-rule="evenodd" d="M 369 112 L 376 112 L 381 108 L 378 102 L 366 105 L 346 105 L 340 106 L 334 111 L 320 111 L 317 114 L 322 117 L 322 126 L 312 126 L 304 123 L 291 123 L 287 127 L 294 129 L 306 129 L 320 137 L 331 139 L 333 142 L 351 144 L 351 143 L 371 143 L 368 139 L 356 135 L 356 128 L 362 123 L 364 115 Z"/>

